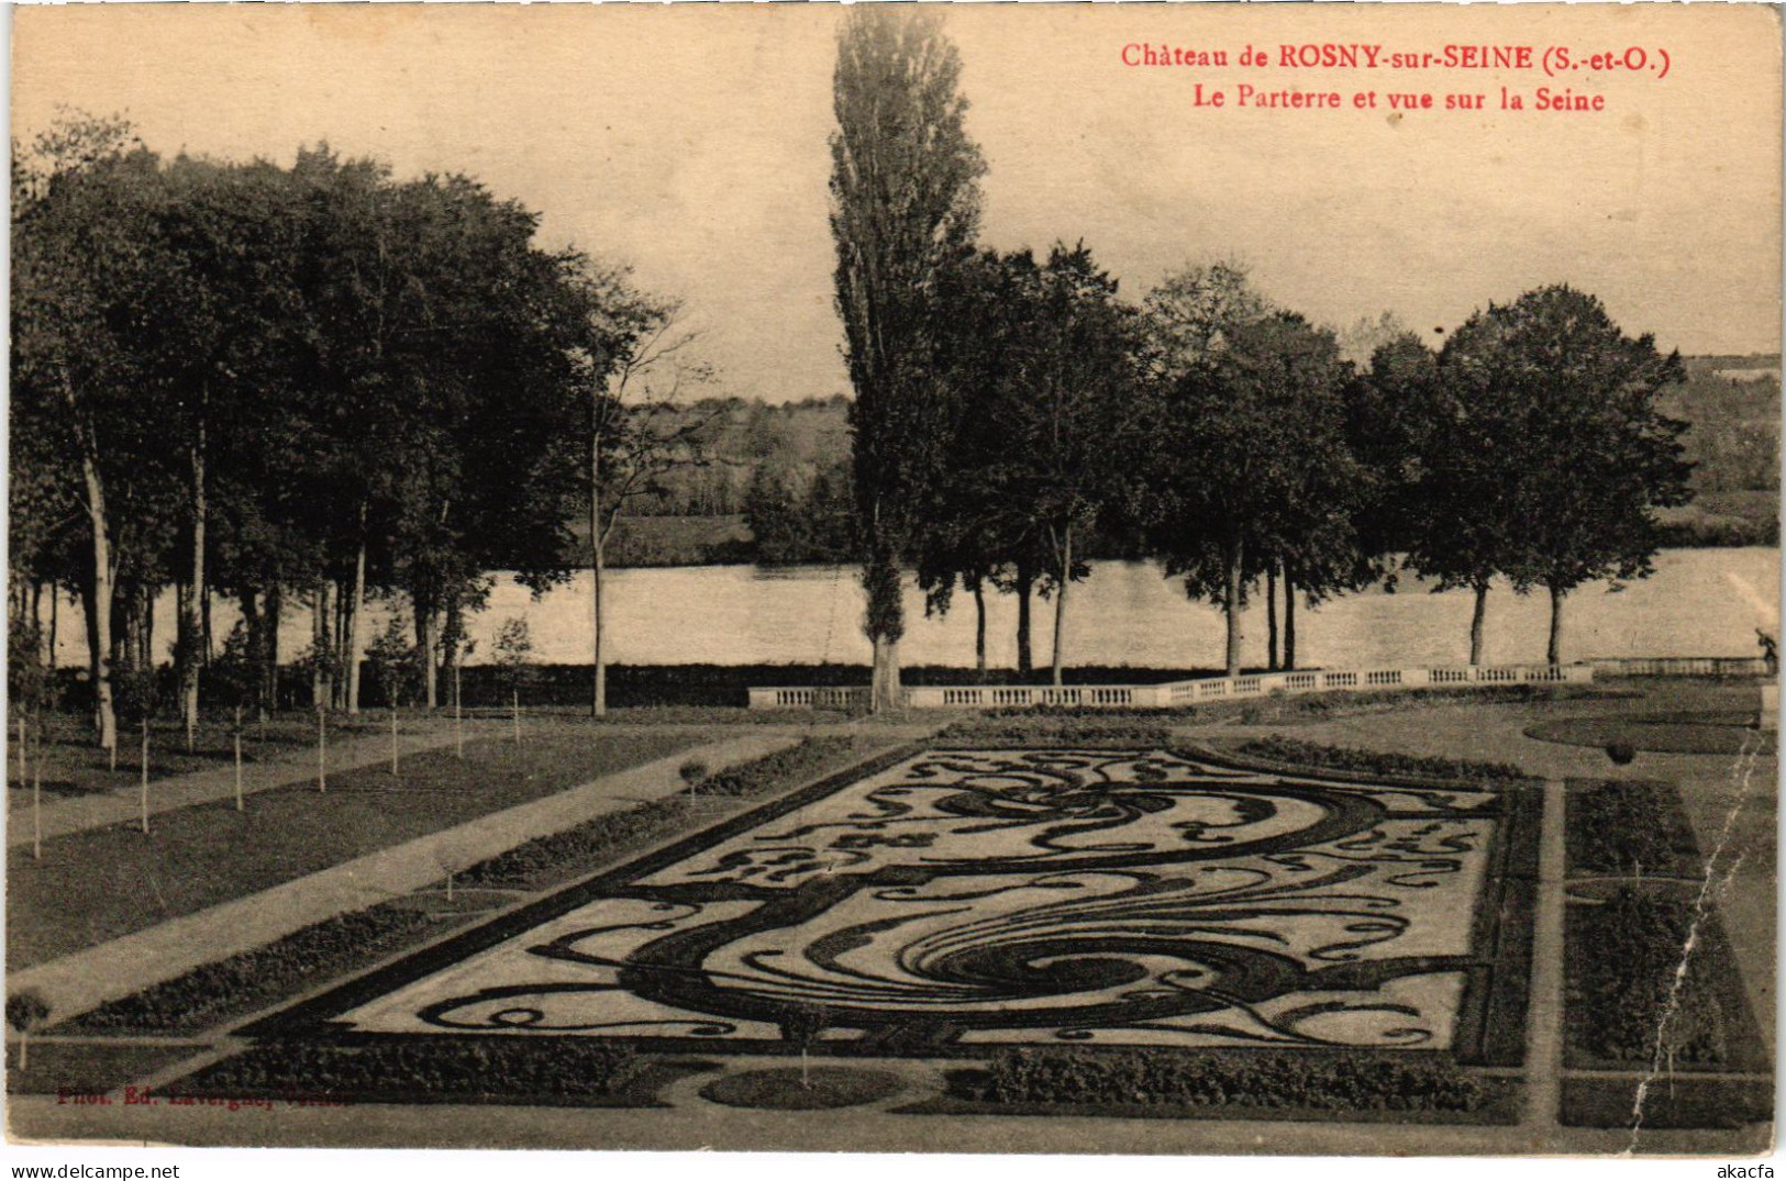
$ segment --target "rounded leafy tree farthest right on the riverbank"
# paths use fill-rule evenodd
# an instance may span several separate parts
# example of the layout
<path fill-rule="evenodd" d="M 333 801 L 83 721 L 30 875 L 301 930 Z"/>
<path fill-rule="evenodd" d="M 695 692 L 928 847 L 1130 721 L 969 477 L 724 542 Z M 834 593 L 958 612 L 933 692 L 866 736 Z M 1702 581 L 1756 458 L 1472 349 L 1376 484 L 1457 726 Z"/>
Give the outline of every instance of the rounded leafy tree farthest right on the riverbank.
<path fill-rule="evenodd" d="M 1679 353 L 1627 337 L 1591 294 L 1531 291 L 1472 316 L 1441 355 L 1454 407 L 1477 407 L 1500 458 L 1507 528 L 1497 566 L 1550 592 L 1545 658 L 1563 658 L 1563 599 L 1598 578 L 1647 578 L 1654 510 L 1690 498 L 1686 423 L 1657 410 L 1684 380 Z"/>

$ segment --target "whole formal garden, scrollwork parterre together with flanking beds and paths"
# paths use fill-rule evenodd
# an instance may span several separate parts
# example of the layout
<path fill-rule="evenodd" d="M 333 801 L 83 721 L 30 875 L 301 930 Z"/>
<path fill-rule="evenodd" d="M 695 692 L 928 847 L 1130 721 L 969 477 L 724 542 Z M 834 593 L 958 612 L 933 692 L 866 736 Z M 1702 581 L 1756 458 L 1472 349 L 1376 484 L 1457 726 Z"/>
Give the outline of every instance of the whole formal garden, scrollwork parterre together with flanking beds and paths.
<path fill-rule="evenodd" d="M 1063 712 L 684 767 L 693 790 L 461 869 L 457 903 L 391 899 L 59 1013 L 11 1086 L 489 1119 L 1765 1127 L 1766 1035 L 1681 792 L 1547 785 L 1356 717 L 1384 749 Z"/>

